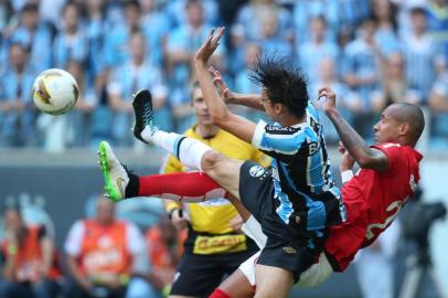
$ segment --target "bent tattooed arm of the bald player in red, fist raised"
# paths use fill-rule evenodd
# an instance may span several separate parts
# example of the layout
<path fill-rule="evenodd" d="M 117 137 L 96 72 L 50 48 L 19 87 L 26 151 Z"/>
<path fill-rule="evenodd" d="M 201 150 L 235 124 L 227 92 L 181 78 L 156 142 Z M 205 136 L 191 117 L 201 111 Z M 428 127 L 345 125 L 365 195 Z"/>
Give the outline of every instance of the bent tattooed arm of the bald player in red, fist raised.
<path fill-rule="evenodd" d="M 362 169 L 384 171 L 387 169 L 388 160 L 381 150 L 370 148 L 364 139 L 351 127 L 335 108 L 335 94 L 328 87 L 319 89 L 319 98 L 327 97 L 323 104 L 326 115 L 333 123 L 345 149 L 360 164 Z"/>

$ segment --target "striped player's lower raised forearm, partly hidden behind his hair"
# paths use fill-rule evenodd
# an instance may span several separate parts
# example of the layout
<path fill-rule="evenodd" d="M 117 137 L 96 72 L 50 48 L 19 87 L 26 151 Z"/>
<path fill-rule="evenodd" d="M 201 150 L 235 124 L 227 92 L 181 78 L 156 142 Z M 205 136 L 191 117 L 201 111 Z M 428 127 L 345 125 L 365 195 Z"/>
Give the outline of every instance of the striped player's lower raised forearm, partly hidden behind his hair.
<path fill-rule="evenodd" d="M 265 111 L 265 106 L 262 104 L 262 95 L 259 94 L 242 94 L 232 92 L 224 82 L 221 73 L 213 67 L 209 68 L 213 77 L 213 83 L 218 88 L 221 96 L 227 104 L 241 105 Z"/>

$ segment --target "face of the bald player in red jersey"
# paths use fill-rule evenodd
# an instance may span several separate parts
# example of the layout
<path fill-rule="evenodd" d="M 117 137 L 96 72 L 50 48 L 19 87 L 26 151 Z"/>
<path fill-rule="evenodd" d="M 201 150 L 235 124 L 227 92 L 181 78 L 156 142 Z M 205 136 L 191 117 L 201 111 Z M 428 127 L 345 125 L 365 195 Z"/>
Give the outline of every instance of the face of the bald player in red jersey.
<path fill-rule="evenodd" d="M 380 121 L 373 126 L 376 142 L 396 142 L 399 137 L 399 123 L 394 118 L 396 108 L 387 107 L 381 114 Z"/>

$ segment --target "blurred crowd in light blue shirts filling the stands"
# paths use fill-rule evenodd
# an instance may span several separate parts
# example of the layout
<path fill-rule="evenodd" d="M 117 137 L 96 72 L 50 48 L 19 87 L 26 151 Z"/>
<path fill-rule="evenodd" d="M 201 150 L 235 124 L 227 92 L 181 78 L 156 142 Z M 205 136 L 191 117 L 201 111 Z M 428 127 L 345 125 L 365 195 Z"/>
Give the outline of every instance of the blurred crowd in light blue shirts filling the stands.
<path fill-rule="evenodd" d="M 259 92 L 250 66 L 282 55 L 308 75 L 311 99 L 331 86 L 366 139 L 386 105 L 408 102 L 428 111 L 430 148 L 448 150 L 446 0 L 2 0 L 0 147 L 134 147 L 130 102 L 140 88 L 152 92 L 157 125 L 183 132 L 194 121 L 191 58 L 216 25 L 227 33 L 212 64 L 235 92 Z M 33 79 L 50 67 L 81 88 L 65 116 L 32 104 Z"/>

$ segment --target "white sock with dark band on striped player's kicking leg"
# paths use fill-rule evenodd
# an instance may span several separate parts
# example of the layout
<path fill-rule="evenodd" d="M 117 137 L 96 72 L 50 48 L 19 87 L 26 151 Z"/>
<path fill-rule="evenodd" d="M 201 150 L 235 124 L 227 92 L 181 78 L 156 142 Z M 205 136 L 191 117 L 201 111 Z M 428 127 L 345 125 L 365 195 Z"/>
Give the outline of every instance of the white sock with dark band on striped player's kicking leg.
<path fill-rule="evenodd" d="M 186 167 L 200 171 L 202 171 L 202 157 L 206 151 L 212 150 L 212 148 L 199 140 L 150 127 L 146 127 L 141 131 L 141 137 L 146 141 L 152 142 L 157 147 L 174 155 Z"/>

